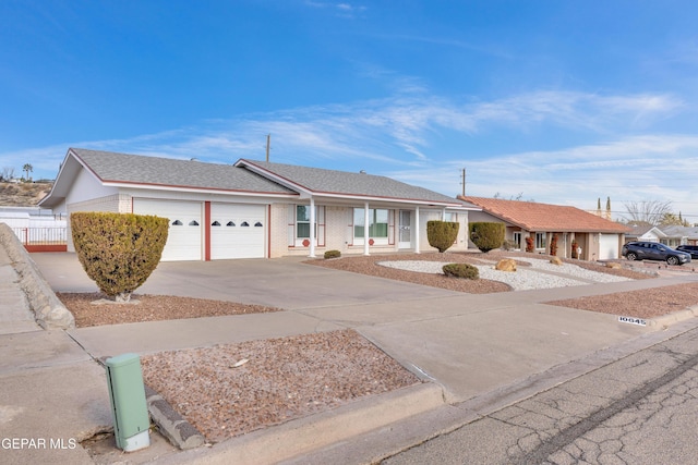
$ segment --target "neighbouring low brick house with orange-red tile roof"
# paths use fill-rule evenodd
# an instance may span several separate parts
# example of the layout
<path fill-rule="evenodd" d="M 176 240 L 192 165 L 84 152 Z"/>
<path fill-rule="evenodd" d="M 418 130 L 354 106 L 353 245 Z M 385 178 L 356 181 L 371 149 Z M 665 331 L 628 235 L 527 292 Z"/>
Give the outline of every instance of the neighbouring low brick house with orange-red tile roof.
<path fill-rule="evenodd" d="M 521 250 L 526 249 L 526 237 L 531 237 L 535 252 L 550 254 L 551 241 L 557 236 L 556 255 L 559 257 L 571 258 L 573 243 L 576 243 L 580 259 L 613 259 L 619 257 L 625 233 L 629 230 L 624 224 L 575 207 L 484 197 L 458 198 L 482 208 L 480 212 L 470 212 L 470 222 L 505 223 L 505 238 Z"/>

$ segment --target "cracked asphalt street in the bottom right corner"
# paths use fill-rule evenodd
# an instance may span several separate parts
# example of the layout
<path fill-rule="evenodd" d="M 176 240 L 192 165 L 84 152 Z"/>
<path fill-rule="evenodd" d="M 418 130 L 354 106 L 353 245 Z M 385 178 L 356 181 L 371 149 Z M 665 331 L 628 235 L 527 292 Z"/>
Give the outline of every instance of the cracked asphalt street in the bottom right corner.
<path fill-rule="evenodd" d="M 396 454 L 394 464 L 694 464 L 698 329 Z"/>

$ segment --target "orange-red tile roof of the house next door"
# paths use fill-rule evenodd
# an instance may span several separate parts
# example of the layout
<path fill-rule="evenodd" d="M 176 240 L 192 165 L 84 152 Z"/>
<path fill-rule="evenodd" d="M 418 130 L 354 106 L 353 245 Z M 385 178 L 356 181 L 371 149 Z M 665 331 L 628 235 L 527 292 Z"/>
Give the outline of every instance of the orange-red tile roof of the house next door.
<path fill-rule="evenodd" d="M 537 204 L 534 201 L 502 200 L 498 198 L 464 197 L 483 211 L 527 231 L 594 232 L 623 234 L 630 231 L 624 224 L 605 220 L 575 207 Z"/>

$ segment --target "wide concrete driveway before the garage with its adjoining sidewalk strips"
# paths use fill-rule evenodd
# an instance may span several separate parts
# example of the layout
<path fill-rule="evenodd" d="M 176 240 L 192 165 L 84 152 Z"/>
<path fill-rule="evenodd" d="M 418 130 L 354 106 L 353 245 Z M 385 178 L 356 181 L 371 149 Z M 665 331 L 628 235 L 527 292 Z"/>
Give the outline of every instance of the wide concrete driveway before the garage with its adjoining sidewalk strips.
<path fill-rule="evenodd" d="M 53 290 L 92 292 L 74 254 L 33 254 Z M 697 276 L 546 291 L 470 295 L 302 264 L 302 259 L 165 262 L 137 290 L 277 306 L 288 311 L 178 322 L 120 325 L 71 331 L 92 353 L 206 346 L 297 333 L 354 328 L 406 367 L 445 388 L 450 402 L 525 382 L 652 329 L 614 315 L 541 304 L 568 296 L 669 285 Z M 277 319 L 274 326 L 268 319 Z M 297 326 L 294 328 L 293 326 Z M 143 335 L 139 336 L 139 331 Z M 153 338 L 153 334 L 158 334 Z M 215 335 L 215 338 L 214 338 Z M 119 346 L 127 343 L 128 346 Z M 139 345 L 151 344 L 151 345 Z M 153 344 L 156 344 L 154 346 Z M 587 367 L 587 369 L 591 369 Z M 569 375 L 569 374 L 567 374 Z M 557 382 L 555 379 L 551 383 Z"/>

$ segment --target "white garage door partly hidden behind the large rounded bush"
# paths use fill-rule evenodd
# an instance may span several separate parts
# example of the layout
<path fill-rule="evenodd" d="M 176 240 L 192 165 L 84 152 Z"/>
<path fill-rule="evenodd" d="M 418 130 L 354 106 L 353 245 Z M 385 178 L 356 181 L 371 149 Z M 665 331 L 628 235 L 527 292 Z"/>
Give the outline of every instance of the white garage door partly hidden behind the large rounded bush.
<path fill-rule="evenodd" d="M 169 219 L 163 261 L 202 259 L 202 204 L 200 201 L 133 199 L 133 212 Z"/>

